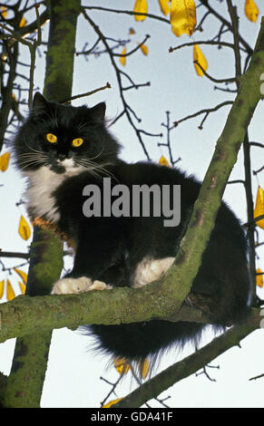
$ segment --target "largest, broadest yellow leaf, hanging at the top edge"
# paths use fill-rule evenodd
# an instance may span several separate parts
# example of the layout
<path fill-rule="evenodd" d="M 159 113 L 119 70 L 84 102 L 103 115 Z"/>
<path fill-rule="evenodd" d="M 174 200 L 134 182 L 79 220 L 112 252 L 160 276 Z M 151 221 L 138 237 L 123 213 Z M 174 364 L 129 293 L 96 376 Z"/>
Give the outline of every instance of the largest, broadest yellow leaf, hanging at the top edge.
<path fill-rule="evenodd" d="M 180 37 L 191 35 L 196 25 L 196 6 L 193 0 L 171 0 L 172 32 Z"/>

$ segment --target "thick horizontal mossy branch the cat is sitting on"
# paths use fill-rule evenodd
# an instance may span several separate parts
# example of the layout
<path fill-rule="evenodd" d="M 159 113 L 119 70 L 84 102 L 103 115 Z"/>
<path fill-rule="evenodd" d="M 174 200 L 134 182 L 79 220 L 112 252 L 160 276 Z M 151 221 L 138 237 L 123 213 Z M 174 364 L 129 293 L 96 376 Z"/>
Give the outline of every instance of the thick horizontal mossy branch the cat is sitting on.
<path fill-rule="evenodd" d="M 211 322 L 202 311 L 188 305 L 182 305 L 179 312 L 169 316 L 167 297 L 159 283 L 144 288 L 114 288 L 82 295 L 20 295 L 0 305 L 0 342 L 34 334 L 36 330 L 75 329 L 83 324 L 129 324 L 158 318 L 172 322 Z M 178 303 L 180 298 L 178 296 Z M 177 301 L 174 302 L 177 305 Z M 246 324 L 259 326 L 260 319 L 259 309 L 252 308 Z"/>

